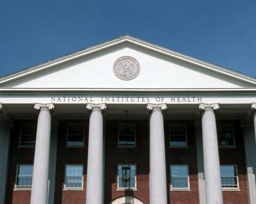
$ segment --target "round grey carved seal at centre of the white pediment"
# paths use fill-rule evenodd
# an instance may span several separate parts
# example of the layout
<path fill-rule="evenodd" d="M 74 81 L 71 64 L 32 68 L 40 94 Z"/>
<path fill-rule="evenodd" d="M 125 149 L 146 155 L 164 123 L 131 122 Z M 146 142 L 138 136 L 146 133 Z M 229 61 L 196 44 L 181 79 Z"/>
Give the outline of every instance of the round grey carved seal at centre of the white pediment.
<path fill-rule="evenodd" d="M 140 73 L 140 64 L 133 57 L 120 57 L 114 63 L 113 72 L 119 79 L 131 80 Z"/>

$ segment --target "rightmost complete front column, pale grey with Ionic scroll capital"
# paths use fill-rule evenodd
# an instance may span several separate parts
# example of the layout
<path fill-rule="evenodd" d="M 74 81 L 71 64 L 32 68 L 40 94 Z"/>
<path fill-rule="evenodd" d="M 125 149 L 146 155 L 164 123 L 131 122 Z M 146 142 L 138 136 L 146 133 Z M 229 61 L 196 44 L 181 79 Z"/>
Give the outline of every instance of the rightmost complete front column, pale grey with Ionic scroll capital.
<path fill-rule="evenodd" d="M 218 104 L 200 104 L 204 152 L 204 177 L 206 204 L 223 204 L 217 127 L 214 110 Z"/>

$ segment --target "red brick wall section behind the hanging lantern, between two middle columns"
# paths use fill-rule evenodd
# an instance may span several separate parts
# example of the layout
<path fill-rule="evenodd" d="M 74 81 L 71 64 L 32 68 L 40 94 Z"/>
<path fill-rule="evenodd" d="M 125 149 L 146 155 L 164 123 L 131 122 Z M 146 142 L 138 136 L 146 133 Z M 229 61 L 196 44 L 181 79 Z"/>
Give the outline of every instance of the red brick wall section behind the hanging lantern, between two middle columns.
<path fill-rule="evenodd" d="M 117 191 L 117 165 L 124 163 L 124 148 L 117 148 L 118 123 L 107 121 L 105 154 L 105 203 L 117 197 L 134 196 L 143 203 L 149 203 L 149 128 L 148 121 L 129 121 L 136 123 L 137 148 L 127 150 L 130 164 L 137 165 L 137 191 Z"/>

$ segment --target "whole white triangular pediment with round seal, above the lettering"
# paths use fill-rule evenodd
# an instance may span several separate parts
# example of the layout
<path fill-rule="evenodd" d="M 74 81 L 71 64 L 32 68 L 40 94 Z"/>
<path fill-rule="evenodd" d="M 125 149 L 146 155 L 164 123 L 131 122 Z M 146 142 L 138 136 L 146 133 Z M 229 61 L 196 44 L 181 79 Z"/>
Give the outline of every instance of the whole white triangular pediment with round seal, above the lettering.
<path fill-rule="evenodd" d="M 122 57 L 124 64 L 117 62 Z M 127 57 L 130 58 L 127 60 Z M 126 66 L 125 63 L 130 63 L 134 72 L 131 75 L 135 74 L 135 77 L 129 78 L 129 74 L 125 73 L 123 78 L 122 74 L 118 76 L 116 70 L 124 72 L 118 66 Z M 0 79 L 0 87 L 94 90 L 236 89 L 256 87 L 256 79 L 137 38 L 123 36 L 7 75 Z"/>

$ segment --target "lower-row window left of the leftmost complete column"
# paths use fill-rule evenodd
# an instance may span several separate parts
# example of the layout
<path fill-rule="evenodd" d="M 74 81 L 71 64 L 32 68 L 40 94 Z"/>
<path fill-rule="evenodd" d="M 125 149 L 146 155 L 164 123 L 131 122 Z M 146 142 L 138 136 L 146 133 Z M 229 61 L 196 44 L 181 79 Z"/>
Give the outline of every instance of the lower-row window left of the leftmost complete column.
<path fill-rule="evenodd" d="M 16 189 L 30 189 L 32 186 L 33 165 L 18 165 Z"/>

